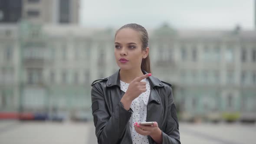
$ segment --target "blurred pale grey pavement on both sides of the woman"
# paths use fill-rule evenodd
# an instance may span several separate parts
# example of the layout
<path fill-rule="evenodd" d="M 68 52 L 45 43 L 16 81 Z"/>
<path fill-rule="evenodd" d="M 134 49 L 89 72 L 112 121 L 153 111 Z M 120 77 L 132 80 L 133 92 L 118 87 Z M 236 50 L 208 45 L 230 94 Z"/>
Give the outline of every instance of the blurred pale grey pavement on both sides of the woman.
<path fill-rule="evenodd" d="M 256 144 L 256 124 L 180 123 L 182 144 Z M 0 144 L 97 144 L 88 123 L 0 121 Z"/>

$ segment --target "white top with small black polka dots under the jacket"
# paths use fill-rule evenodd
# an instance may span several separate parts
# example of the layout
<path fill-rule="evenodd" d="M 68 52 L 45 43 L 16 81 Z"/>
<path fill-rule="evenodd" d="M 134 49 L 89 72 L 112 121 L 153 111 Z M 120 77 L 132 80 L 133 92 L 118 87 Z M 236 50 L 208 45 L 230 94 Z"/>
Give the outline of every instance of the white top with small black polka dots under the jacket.
<path fill-rule="evenodd" d="M 151 89 L 148 79 L 143 79 L 141 80 L 141 82 L 146 82 L 147 91 L 143 92 L 131 103 L 131 109 L 133 110 L 133 113 L 129 120 L 129 128 L 131 131 L 131 139 L 133 141 L 133 144 L 148 144 L 148 137 L 138 134 L 133 126 L 135 122 L 145 122 L 147 118 L 147 105 Z M 121 90 L 126 92 L 129 84 L 120 80 L 120 85 Z"/>

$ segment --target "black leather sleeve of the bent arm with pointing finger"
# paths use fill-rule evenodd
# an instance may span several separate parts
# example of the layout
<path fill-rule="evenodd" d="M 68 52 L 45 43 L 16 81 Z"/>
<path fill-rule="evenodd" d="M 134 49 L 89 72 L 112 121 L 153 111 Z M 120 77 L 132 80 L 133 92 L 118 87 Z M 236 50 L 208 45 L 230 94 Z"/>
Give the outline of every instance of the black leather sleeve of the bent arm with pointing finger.
<path fill-rule="evenodd" d="M 131 109 L 127 111 L 121 102 L 110 112 L 106 105 L 102 86 L 98 83 L 91 90 L 92 115 L 98 144 L 116 144 L 125 132 L 131 117 Z"/>

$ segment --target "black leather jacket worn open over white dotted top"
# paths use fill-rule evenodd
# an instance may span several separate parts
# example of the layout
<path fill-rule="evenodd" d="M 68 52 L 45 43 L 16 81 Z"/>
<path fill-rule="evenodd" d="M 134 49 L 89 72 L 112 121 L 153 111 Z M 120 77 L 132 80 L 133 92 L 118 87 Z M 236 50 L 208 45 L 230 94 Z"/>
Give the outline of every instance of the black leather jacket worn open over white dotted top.
<path fill-rule="evenodd" d="M 133 111 L 125 110 L 120 102 L 125 92 L 120 90 L 119 71 L 92 83 L 92 115 L 98 144 L 132 144 L 128 121 Z M 143 71 L 144 74 L 147 72 Z M 151 93 L 147 121 L 157 121 L 162 130 L 163 144 L 181 144 L 171 84 L 148 77 Z M 149 144 L 155 144 L 148 136 Z"/>

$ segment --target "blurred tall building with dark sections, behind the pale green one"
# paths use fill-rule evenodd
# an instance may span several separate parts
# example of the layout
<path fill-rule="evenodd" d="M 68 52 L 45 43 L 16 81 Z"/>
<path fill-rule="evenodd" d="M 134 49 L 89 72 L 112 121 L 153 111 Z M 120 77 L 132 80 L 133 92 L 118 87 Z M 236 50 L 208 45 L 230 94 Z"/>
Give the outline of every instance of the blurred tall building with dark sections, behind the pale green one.
<path fill-rule="evenodd" d="M 80 0 L 0 0 L 0 23 L 78 24 Z"/>

